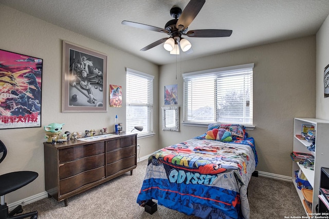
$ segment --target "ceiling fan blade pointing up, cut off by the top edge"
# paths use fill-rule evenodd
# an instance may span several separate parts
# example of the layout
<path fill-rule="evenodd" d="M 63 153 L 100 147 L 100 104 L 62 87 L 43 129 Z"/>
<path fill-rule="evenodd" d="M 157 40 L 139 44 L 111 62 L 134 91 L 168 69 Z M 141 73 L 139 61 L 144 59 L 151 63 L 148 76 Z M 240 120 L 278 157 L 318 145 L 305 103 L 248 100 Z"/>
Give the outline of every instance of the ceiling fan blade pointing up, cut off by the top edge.
<path fill-rule="evenodd" d="M 191 0 L 181 12 L 176 23 L 178 31 L 185 30 L 204 6 L 206 0 Z"/>

